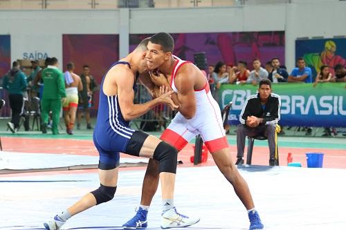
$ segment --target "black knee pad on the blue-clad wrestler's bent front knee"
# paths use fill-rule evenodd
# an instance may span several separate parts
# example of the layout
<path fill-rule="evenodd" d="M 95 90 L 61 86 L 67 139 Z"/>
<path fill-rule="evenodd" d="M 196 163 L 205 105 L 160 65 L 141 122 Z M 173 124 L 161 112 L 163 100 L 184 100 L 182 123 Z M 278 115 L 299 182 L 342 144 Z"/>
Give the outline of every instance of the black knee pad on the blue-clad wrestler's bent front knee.
<path fill-rule="evenodd" d="M 160 142 L 155 148 L 153 158 L 159 162 L 158 171 L 160 173 L 176 173 L 178 151 L 170 144 Z"/>

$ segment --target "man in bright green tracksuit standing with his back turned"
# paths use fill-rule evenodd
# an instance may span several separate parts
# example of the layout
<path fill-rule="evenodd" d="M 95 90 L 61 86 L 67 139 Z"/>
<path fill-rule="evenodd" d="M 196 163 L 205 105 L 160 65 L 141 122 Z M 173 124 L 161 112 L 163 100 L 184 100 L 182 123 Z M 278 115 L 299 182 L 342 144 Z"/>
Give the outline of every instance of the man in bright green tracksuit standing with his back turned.
<path fill-rule="evenodd" d="M 57 68 L 55 57 L 50 60 L 51 64 L 42 71 L 44 90 L 42 95 L 42 133 L 47 133 L 49 112 L 52 111 L 52 133 L 59 134 L 57 124 L 60 123 L 60 111 L 62 103 L 66 100 L 64 74 Z"/>

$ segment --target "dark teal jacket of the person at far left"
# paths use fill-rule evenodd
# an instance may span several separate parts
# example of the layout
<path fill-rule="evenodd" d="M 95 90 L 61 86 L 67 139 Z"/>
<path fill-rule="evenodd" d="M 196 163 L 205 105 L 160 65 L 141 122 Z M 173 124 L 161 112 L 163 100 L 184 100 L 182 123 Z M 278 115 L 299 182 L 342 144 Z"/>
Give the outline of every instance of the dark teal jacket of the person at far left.
<path fill-rule="evenodd" d="M 3 88 L 10 94 L 23 94 L 26 90 L 26 75 L 21 70 L 11 70 L 3 78 Z"/>

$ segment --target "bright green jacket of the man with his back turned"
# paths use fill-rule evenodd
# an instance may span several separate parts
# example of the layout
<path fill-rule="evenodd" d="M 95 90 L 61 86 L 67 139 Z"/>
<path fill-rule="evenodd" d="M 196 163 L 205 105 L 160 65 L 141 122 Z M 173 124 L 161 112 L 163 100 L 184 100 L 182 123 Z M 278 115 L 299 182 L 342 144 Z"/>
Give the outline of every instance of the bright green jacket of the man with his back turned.
<path fill-rule="evenodd" d="M 64 74 L 55 66 L 48 66 L 42 71 L 44 90 L 42 99 L 62 99 L 66 97 Z"/>

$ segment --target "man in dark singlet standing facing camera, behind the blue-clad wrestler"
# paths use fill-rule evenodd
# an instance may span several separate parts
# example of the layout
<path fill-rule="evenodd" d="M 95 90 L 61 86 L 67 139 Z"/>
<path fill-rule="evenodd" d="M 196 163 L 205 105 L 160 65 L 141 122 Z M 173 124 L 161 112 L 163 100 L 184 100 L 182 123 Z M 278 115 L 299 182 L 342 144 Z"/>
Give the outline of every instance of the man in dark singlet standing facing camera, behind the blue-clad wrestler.
<path fill-rule="evenodd" d="M 93 105 L 93 93 L 98 89 L 95 79 L 90 75 L 90 68 L 88 65 L 83 66 L 83 73 L 80 75 L 82 80 L 83 90 L 80 91 L 80 102 L 78 105 L 78 116 L 77 116 L 77 128 L 80 129 L 80 122 L 82 120 L 82 112 L 84 112 L 86 119 L 86 128 L 91 129 L 90 122 L 90 108 Z"/>

